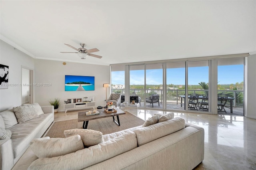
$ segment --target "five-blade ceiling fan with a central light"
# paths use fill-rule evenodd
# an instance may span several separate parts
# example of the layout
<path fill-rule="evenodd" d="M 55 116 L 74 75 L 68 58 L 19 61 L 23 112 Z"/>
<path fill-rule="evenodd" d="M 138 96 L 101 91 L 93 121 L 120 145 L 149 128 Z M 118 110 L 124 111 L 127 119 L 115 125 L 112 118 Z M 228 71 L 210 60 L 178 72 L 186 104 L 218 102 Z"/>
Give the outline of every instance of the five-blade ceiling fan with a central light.
<path fill-rule="evenodd" d="M 64 44 L 68 45 L 66 43 L 64 43 Z M 82 46 L 82 48 L 78 48 L 78 49 L 75 47 L 72 47 L 71 45 L 68 45 L 69 47 L 75 49 L 78 52 L 61 52 L 61 53 L 78 53 L 78 56 L 81 57 L 81 59 L 86 59 L 88 57 L 88 55 L 92 56 L 92 57 L 96 57 L 96 58 L 102 58 L 102 56 L 100 56 L 100 55 L 91 54 L 93 52 L 100 51 L 97 48 L 86 49 L 86 48 L 84 48 L 86 46 L 85 43 L 80 43 L 80 45 Z"/>

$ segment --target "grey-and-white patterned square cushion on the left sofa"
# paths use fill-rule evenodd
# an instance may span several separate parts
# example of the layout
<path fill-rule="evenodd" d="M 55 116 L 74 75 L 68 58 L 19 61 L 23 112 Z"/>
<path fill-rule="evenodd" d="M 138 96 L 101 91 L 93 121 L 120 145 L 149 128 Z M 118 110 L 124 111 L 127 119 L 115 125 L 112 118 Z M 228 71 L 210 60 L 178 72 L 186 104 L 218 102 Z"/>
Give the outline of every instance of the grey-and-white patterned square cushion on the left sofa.
<path fill-rule="evenodd" d="M 36 109 L 31 105 L 13 107 L 18 123 L 23 123 L 38 117 Z"/>

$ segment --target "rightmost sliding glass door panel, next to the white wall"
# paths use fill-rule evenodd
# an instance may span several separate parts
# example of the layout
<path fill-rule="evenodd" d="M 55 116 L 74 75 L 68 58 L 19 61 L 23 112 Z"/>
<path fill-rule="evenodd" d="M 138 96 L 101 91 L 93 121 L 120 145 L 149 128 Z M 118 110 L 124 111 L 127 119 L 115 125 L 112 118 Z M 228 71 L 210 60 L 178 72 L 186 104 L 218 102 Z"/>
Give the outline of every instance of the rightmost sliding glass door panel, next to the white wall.
<path fill-rule="evenodd" d="M 218 59 L 218 114 L 244 115 L 244 57 Z"/>

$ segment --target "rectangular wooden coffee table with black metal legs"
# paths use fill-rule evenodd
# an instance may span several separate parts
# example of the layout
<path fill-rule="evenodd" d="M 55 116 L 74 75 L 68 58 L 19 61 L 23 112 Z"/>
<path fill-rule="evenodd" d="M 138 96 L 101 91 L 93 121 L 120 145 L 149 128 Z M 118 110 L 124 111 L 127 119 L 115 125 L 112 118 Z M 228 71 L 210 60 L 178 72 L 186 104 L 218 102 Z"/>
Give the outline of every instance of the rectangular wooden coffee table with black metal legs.
<path fill-rule="evenodd" d="M 86 112 L 78 112 L 78 122 L 84 122 L 83 128 L 87 128 L 89 121 L 95 120 L 95 119 L 101 119 L 105 117 L 113 117 L 114 122 L 116 125 L 120 126 L 120 121 L 119 121 L 119 115 L 125 115 L 125 112 L 115 108 L 117 112 L 115 113 L 106 113 L 104 109 L 99 109 L 98 111 L 100 112 L 99 115 L 91 115 L 91 116 L 86 116 Z M 115 120 L 114 116 L 116 116 L 117 121 Z"/>

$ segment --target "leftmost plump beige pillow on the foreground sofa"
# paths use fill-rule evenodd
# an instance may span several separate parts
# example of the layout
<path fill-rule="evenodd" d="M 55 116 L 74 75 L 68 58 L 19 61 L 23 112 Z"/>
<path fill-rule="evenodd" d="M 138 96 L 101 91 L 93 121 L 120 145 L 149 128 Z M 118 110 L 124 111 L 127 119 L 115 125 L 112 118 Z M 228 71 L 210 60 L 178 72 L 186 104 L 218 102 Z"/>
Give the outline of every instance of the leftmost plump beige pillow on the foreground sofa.
<path fill-rule="evenodd" d="M 76 134 L 68 138 L 37 138 L 30 147 L 38 158 L 52 158 L 76 152 L 84 148 L 81 136 Z"/>

